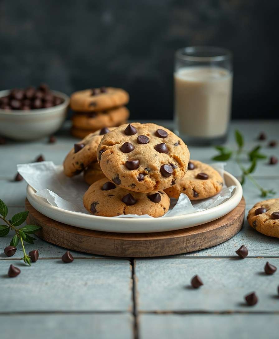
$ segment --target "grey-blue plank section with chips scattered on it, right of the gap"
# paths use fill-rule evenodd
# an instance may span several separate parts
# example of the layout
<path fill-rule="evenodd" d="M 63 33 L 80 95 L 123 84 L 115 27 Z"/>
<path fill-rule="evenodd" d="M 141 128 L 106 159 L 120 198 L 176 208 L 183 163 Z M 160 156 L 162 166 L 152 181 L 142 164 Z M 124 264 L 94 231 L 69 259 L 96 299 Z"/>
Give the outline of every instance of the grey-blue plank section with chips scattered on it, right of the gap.
<path fill-rule="evenodd" d="M 279 267 L 279 258 L 270 262 Z M 263 272 L 266 259 L 136 260 L 139 311 L 279 311 L 279 272 Z M 199 275 L 204 283 L 190 286 Z M 247 307 L 243 297 L 255 291 L 259 302 Z"/>

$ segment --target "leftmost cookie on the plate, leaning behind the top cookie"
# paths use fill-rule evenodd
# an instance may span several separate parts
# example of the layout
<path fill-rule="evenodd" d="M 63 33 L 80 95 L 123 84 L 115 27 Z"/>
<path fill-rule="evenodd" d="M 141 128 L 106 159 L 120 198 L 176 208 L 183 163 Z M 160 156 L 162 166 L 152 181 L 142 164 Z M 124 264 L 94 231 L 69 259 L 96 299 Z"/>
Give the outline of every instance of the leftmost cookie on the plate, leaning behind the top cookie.
<path fill-rule="evenodd" d="M 91 162 L 97 160 L 96 150 L 103 136 L 115 127 L 105 127 L 99 131 L 88 134 L 67 154 L 63 167 L 67 177 L 81 173 Z"/>

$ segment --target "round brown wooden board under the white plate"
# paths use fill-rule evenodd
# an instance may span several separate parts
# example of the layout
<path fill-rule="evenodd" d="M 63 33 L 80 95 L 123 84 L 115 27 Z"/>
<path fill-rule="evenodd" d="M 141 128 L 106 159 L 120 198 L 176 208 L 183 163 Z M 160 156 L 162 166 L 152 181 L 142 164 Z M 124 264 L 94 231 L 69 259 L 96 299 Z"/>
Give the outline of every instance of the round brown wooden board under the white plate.
<path fill-rule="evenodd" d="M 36 235 L 69 250 L 112 257 L 158 257 L 188 253 L 220 244 L 240 231 L 245 212 L 242 197 L 227 215 L 183 230 L 158 233 L 111 233 L 86 230 L 52 220 L 25 201 L 28 223 L 42 226 Z"/>

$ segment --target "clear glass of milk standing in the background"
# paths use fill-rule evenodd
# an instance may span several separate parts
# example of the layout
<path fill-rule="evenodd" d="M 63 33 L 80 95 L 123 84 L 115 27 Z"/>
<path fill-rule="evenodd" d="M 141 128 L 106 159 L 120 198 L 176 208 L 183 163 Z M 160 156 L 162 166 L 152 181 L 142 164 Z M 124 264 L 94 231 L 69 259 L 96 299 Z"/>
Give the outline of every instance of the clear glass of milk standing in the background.
<path fill-rule="evenodd" d="M 175 132 L 192 145 L 226 140 L 231 116 L 232 54 L 220 47 L 178 49 L 174 66 Z"/>

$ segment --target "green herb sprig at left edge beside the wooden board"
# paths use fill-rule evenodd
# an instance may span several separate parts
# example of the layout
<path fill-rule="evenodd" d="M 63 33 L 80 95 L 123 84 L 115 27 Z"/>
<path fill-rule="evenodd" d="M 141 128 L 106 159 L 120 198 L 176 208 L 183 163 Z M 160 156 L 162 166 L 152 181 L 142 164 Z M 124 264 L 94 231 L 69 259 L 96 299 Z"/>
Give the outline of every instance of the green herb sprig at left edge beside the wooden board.
<path fill-rule="evenodd" d="M 6 220 L 6 216 L 8 214 L 8 207 L 5 205 L 5 203 L 0 199 L 0 219 L 2 219 L 7 225 L 0 225 L 0 237 L 4 237 L 9 233 L 10 230 L 13 230 L 16 232 L 14 235 L 12 241 L 10 242 L 10 246 L 16 247 L 21 242 L 22 250 L 23 250 L 23 261 L 31 266 L 30 264 L 30 256 L 28 256 L 25 252 L 25 247 L 23 241 L 34 244 L 34 240 L 36 238 L 31 237 L 29 234 L 36 233 L 41 226 L 37 225 L 26 225 L 21 228 L 16 228 L 17 226 L 20 226 L 24 221 L 27 219 L 29 211 L 24 211 L 15 214 L 12 217 L 12 220 Z"/>

